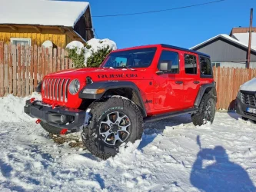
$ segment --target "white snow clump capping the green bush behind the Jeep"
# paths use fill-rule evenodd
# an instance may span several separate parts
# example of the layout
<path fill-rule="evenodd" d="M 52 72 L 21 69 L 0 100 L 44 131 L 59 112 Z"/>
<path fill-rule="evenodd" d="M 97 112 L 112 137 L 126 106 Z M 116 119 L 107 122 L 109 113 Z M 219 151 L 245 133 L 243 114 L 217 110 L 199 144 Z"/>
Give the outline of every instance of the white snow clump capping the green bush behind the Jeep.
<path fill-rule="evenodd" d="M 87 60 L 89 57 L 91 57 L 93 53 L 97 53 L 98 51 L 107 47 L 109 47 L 109 50 L 116 50 L 118 48 L 115 41 L 111 41 L 108 38 L 104 38 L 104 39 L 92 38 L 91 40 L 87 41 L 86 46 L 84 46 L 80 41 L 71 41 L 66 46 L 66 48 L 69 48 L 69 49 L 77 48 L 76 53 L 78 55 L 81 54 L 81 49 L 85 50 L 85 66 L 87 66 Z"/>

